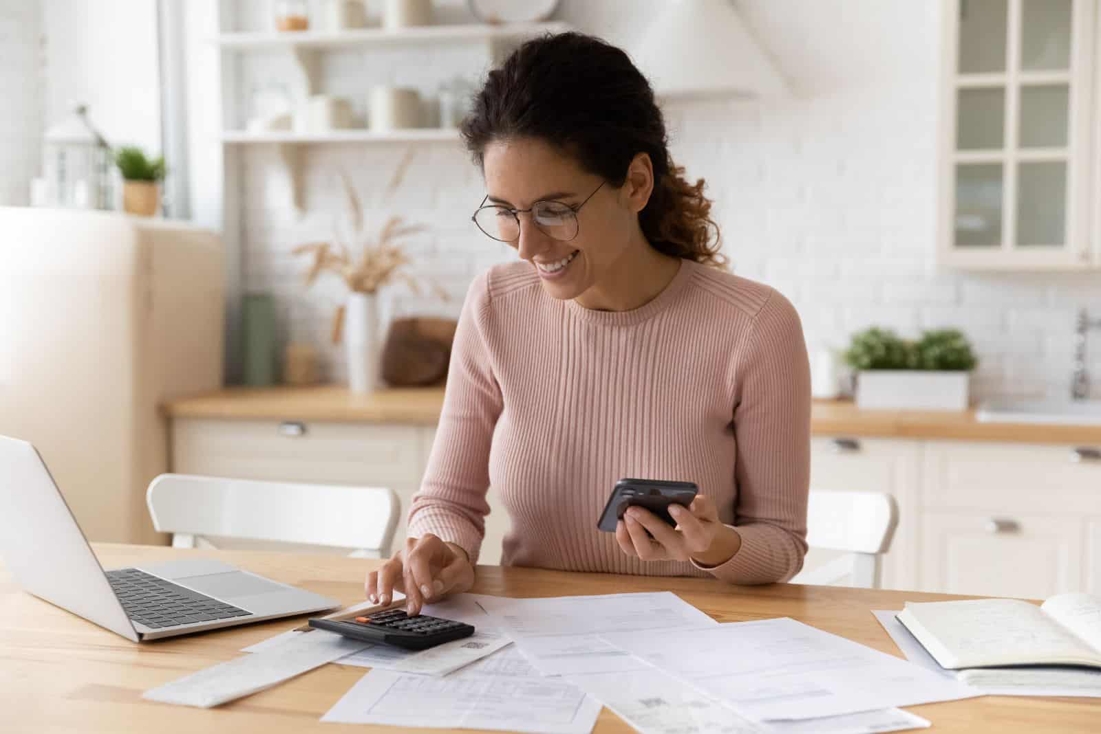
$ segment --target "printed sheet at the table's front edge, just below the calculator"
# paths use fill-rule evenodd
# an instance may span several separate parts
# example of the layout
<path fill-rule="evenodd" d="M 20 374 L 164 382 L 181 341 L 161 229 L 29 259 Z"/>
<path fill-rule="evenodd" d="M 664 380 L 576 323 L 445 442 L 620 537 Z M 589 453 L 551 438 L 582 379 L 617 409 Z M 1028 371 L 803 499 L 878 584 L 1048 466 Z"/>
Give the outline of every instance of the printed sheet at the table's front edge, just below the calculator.
<path fill-rule="evenodd" d="M 321 721 L 588 734 L 599 713 L 595 699 L 542 677 L 510 646 L 443 678 L 372 670 Z"/>

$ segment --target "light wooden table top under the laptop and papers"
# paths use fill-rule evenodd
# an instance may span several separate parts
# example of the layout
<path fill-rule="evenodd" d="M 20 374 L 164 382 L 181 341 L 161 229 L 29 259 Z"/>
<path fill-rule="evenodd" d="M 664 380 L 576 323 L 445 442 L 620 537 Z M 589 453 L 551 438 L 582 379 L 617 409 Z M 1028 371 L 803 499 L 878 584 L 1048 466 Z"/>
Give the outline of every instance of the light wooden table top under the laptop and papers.
<path fill-rule="evenodd" d="M 106 568 L 190 554 L 216 557 L 273 579 L 362 601 L 362 578 L 378 561 L 336 556 L 182 550 L 97 544 Z M 776 585 L 731 587 L 708 579 L 566 574 L 527 568 L 478 569 L 481 593 L 546 597 L 671 590 L 720 622 L 791 616 L 892 655 L 894 643 L 869 610 L 901 609 L 905 600 L 941 594 Z M 321 724 L 319 719 L 363 675 L 327 665 L 271 690 L 200 710 L 152 703 L 145 689 L 238 656 L 240 648 L 283 632 L 302 619 L 280 620 L 138 645 L 22 592 L 0 566 L 0 731 L 34 732 L 392 732 L 393 727 Z M 1101 700 L 984 697 L 911 707 L 944 732 L 1097 732 Z M 630 732 L 608 710 L 596 732 Z"/>

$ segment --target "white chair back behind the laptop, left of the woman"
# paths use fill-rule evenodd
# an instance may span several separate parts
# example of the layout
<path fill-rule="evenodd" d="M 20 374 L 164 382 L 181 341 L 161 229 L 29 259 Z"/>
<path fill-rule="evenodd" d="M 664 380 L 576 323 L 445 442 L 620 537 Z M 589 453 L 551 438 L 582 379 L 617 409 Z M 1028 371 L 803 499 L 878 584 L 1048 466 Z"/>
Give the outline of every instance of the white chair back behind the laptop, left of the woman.
<path fill-rule="evenodd" d="M 302 485 L 163 474 L 145 492 L 153 526 L 177 548 L 294 544 L 295 550 L 390 555 L 400 501 L 384 487 Z M 249 543 L 252 543 L 250 546 Z M 220 545 L 219 545 L 220 544 Z M 290 548 L 290 545 L 287 545 Z"/>

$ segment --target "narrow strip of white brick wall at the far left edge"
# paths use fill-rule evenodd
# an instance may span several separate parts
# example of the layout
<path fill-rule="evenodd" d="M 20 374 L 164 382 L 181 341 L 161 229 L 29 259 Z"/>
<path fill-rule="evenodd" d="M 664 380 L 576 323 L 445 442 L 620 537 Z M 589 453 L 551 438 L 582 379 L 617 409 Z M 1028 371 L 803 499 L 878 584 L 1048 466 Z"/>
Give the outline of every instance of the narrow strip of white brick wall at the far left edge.
<path fill-rule="evenodd" d="M 42 10 L 0 0 L 0 205 L 30 200 L 43 126 Z"/>

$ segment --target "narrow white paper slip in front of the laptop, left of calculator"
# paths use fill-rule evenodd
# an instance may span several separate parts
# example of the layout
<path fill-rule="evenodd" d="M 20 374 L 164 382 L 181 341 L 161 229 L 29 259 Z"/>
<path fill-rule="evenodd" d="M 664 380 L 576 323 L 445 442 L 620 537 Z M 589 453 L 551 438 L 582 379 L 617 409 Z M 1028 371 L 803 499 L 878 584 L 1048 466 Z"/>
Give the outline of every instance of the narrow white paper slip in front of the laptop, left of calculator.
<path fill-rule="evenodd" d="M 366 643 L 317 630 L 260 653 L 222 663 L 150 689 L 142 698 L 203 709 L 255 693 L 355 653 Z"/>

